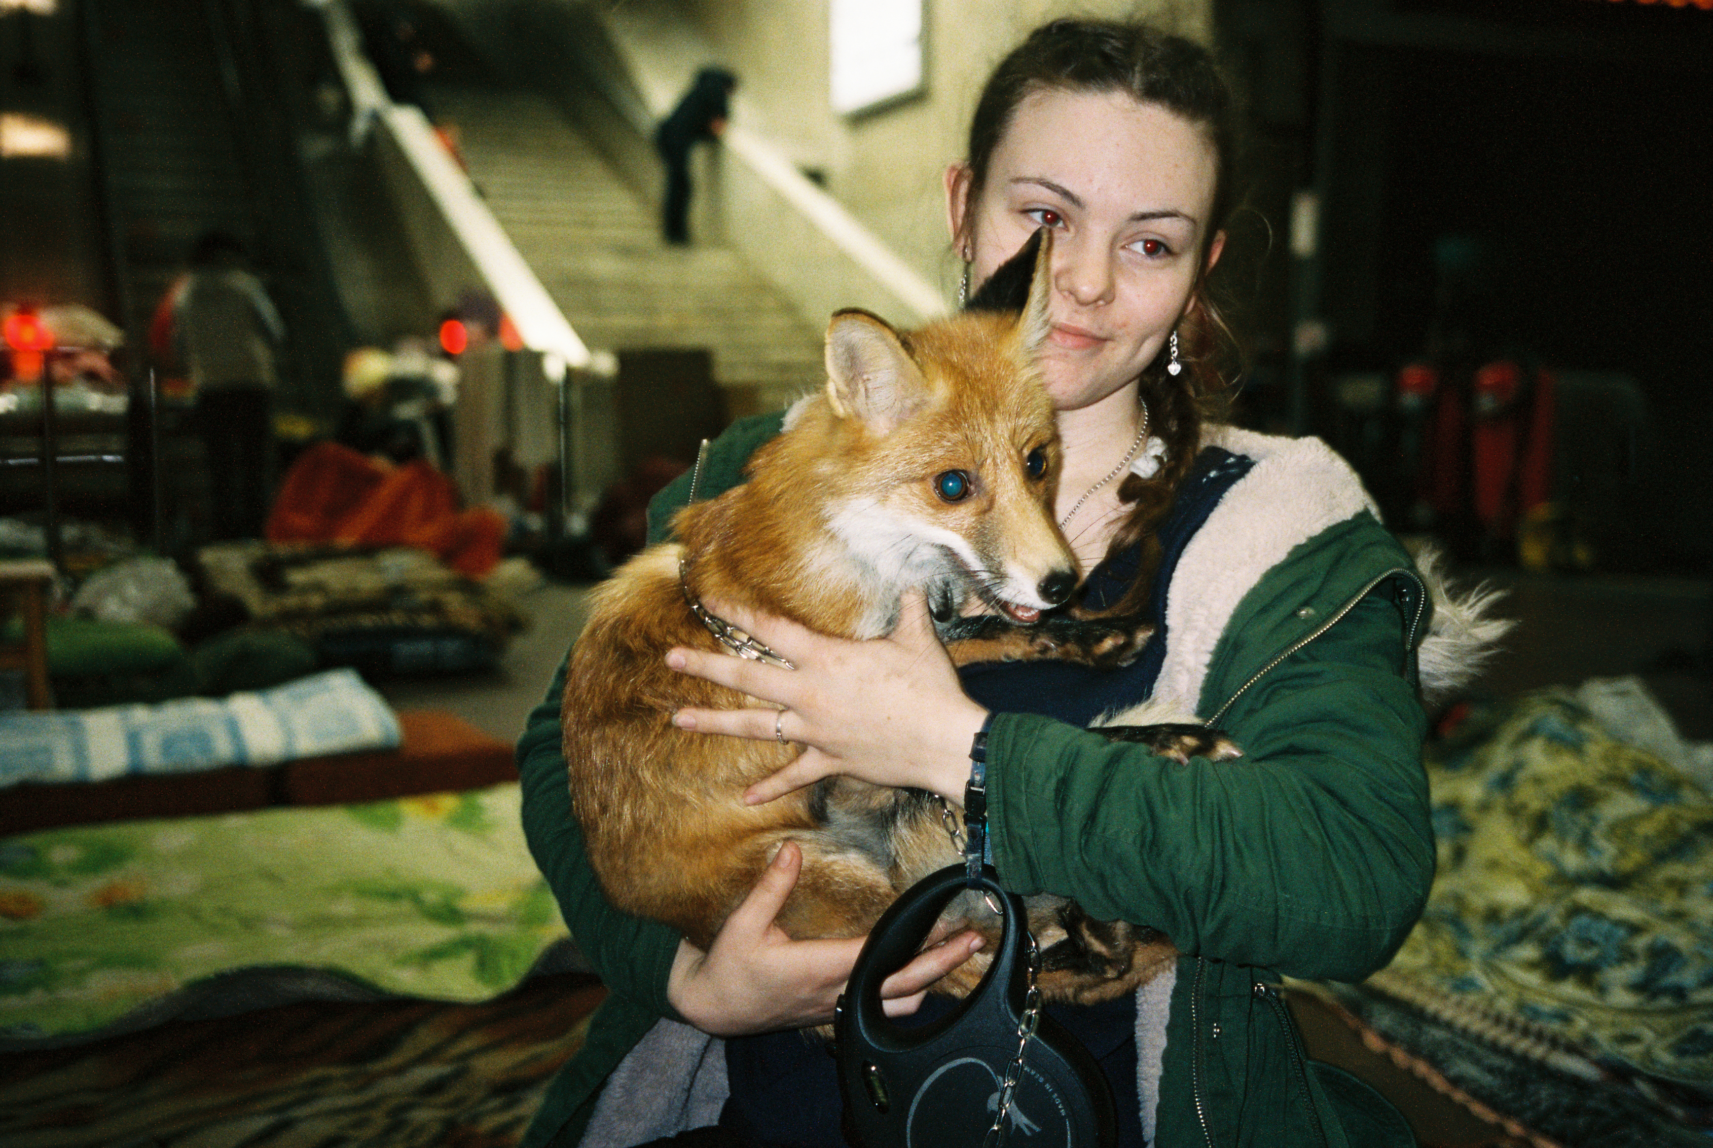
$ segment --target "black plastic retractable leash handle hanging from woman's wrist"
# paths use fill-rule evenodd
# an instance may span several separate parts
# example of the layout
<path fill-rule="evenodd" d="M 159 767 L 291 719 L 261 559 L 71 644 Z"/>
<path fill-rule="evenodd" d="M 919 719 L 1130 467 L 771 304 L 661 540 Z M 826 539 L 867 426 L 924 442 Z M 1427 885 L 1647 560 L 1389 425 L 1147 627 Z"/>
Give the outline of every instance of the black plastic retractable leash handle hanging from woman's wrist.
<path fill-rule="evenodd" d="M 928 874 L 880 917 L 856 958 L 833 1021 L 846 1136 L 862 1148 L 1112 1145 L 1117 1124 L 1107 1079 L 1076 1037 L 1030 1006 L 1023 898 L 1000 889 L 992 867 L 982 867 L 975 888 L 1000 906 L 1004 927 L 975 992 L 932 1021 L 886 1016 L 880 984 L 970 888 L 963 865 Z"/>

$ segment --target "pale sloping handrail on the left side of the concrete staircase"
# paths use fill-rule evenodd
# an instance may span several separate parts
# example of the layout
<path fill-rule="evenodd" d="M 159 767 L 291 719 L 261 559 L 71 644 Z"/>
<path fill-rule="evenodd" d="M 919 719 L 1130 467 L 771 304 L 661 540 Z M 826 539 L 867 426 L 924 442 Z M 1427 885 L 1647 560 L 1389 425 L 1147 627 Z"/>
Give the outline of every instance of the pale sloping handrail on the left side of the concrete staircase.
<path fill-rule="evenodd" d="M 457 166 L 420 108 L 397 105 L 363 51 L 363 34 L 344 0 L 303 0 L 317 9 L 327 26 L 334 65 L 351 99 L 351 139 L 360 144 L 370 130 L 387 132 L 409 163 L 459 245 L 510 317 L 517 338 L 543 355 L 550 380 L 564 368 L 593 370 L 600 363 L 546 293 L 534 271 L 517 252 L 498 219 L 481 200 L 476 185 Z"/>

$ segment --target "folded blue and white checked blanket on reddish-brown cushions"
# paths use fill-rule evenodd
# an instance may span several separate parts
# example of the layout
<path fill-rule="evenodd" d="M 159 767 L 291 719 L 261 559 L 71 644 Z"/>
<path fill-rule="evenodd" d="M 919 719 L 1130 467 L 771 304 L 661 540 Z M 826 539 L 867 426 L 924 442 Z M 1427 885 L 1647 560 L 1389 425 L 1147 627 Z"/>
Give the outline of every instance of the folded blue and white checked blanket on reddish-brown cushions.
<path fill-rule="evenodd" d="M 329 670 L 221 699 L 0 713 L 0 786 L 272 766 L 397 744 L 399 721 L 380 694 L 351 670 Z"/>

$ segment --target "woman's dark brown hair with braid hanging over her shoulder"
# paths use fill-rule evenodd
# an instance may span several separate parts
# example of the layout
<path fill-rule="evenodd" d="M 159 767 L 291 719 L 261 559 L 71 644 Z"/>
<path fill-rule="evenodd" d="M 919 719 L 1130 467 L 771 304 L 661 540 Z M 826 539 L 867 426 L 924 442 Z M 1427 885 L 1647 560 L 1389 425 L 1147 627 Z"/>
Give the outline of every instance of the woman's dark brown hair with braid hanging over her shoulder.
<path fill-rule="evenodd" d="M 1053 89 L 1125 93 L 1139 103 L 1177 113 L 1206 134 L 1216 159 L 1213 209 L 1197 254 L 1201 267 L 1206 267 L 1208 245 L 1225 230 L 1237 206 L 1237 101 L 1206 48 L 1144 24 L 1059 19 L 1030 33 L 1028 39 L 1000 60 L 970 120 L 966 221 L 973 219 L 988 163 L 1018 106 L 1038 91 Z M 1141 377 L 1149 433 L 1165 442 L 1167 454 L 1153 478 L 1127 475 L 1119 485 L 1119 500 L 1129 504 L 1131 511 L 1113 536 L 1110 552 L 1141 541 L 1143 569 L 1115 612 L 1139 610 L 1146 603 L 1160 560 L 1155 528 L 1196 461 L 1203 420 L 1225 410 L 1227 380 L 1220 363 L 1232 358 L 1235 339 L 1208 296 L 1204 278 L 1206 271 L 1199 271 L 1189 310 L 1179 322 L 1179 358 L 1184 370 L 1179 375 L 1167 374 L 1167 355 L 1161 353 Z"/>

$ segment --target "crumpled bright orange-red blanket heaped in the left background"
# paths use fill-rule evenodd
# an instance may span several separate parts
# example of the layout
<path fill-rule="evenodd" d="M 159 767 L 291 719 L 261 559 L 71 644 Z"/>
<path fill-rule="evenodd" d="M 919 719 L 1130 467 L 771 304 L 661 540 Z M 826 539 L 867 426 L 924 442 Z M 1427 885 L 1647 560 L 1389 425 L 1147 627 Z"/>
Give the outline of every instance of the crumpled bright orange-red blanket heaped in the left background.
<path fill-rule="evenodd" d="M 391 466 L 337 442 L 317 442 L 286 471 L 267 516 L 269 541 L 418 547 L 483 577 L 500 560 L 505 517 L 457 509 L 452 480 L 425 459 Z"/>

